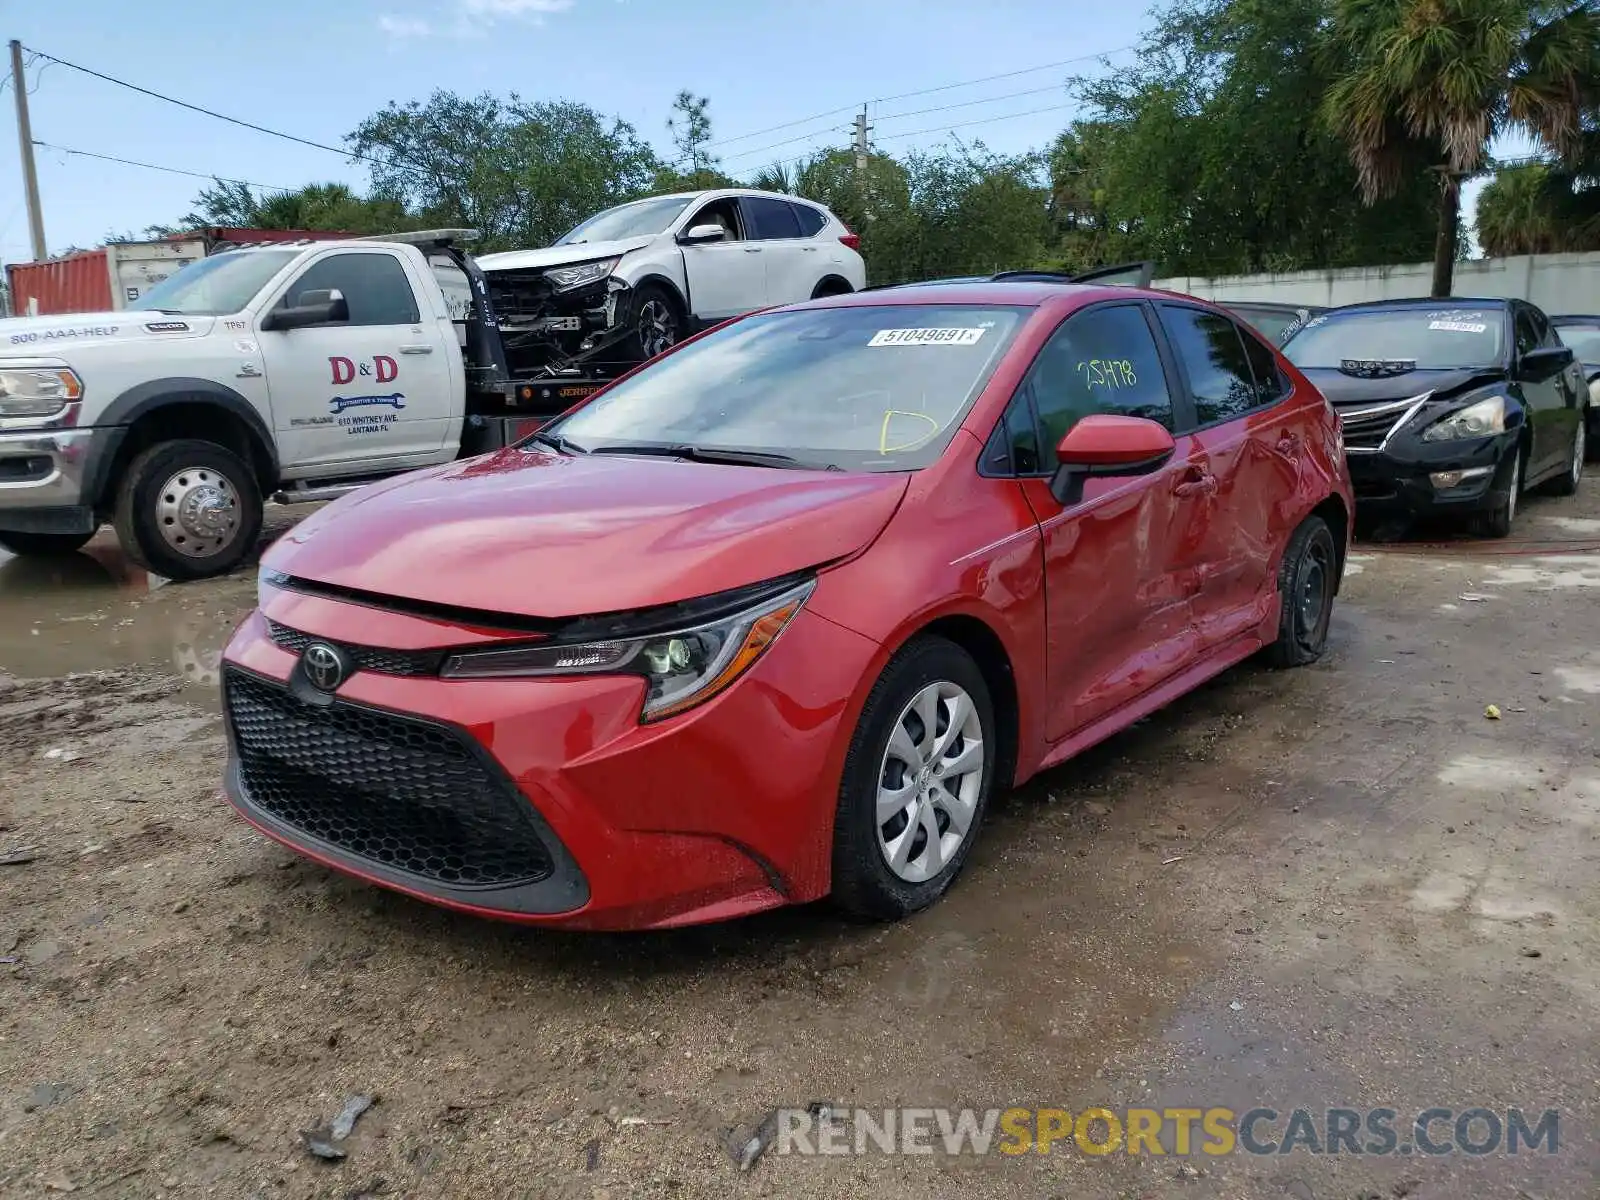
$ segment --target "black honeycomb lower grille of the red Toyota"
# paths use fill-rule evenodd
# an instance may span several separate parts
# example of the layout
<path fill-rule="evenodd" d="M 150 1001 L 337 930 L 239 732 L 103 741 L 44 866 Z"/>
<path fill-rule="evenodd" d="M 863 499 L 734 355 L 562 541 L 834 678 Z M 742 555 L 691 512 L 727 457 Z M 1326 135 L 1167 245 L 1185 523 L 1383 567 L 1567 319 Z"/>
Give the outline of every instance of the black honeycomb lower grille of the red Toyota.
<path fill-rule="evenodd" d="M 245 797 L 350 854 L 454 886 L 534 883 L 552 870 L 528 802 L 440 725 L 275 683 L 222 677 Z"/>

